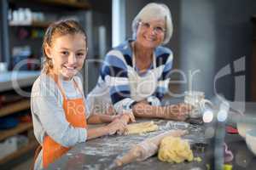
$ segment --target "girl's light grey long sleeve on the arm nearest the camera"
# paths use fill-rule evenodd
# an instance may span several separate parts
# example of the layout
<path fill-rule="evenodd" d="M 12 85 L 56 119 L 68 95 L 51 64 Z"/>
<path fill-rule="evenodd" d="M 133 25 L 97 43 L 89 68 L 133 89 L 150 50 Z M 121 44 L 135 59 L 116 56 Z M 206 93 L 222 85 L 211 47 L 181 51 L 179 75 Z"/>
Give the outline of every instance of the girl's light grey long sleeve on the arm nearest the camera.
<path fill-rule="evenodd" d="M 55 95 L 58 89 L 55 82 L 37 82 L 32 88 L 31 109 L 36 129 L 40 130 L 38 136 L 44 133 L 55 142 L 65 147 L 73 146 L 86 140 L 86 129 L 70 126 L 67 122 L 60 98 Z M 42 142 L 42 141 L 41 141 Z"/>

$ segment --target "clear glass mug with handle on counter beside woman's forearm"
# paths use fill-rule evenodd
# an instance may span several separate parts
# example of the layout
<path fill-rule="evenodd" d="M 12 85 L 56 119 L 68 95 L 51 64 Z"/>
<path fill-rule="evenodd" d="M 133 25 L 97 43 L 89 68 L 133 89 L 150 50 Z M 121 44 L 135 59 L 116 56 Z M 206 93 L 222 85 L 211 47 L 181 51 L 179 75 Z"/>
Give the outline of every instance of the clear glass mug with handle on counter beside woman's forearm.
<path fill-rule="evenodd" d="M 190 111 L 189 117 L 199 118 L 202 116 L 202 112 L 206 105 L 212 106 L 212 102 L 205 99 L 205 94 L 200 91 L 186 91 L 184 97 L 184 103 L 192 105 L 194 109 Z"/>

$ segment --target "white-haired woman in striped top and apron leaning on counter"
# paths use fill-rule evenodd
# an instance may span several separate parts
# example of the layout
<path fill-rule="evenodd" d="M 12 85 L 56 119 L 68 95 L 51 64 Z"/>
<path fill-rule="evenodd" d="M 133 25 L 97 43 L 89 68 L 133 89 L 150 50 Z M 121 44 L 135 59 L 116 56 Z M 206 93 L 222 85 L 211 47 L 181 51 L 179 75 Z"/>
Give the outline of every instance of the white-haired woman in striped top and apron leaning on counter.
<path fill-rule="evenodd" d="M 170 41 L 172 29 L 165 4 L 142 8 L 132 21 L 133 38 L 106 55 L 96 87 L 87 96 L 90 111 L 185 120 L 189 105 L 160 105 L 168 92 L 173 59 L 172 51 L 162 45 Z"/>

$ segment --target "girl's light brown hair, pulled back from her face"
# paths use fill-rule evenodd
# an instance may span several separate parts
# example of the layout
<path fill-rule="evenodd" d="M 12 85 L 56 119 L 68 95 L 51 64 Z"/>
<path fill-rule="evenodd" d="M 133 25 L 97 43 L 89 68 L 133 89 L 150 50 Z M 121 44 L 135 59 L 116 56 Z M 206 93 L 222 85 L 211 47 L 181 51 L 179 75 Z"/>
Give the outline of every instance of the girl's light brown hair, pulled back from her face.
<path fill-rule="evenodd" d="M 45 53 L 45 46 L 49 45 L 51 47 L 53 44 L 55 37 L 65 36 L 68 34 L 74 35 L 74 34 L 82 34 L 84 35 L 85 44 L 87 46 L 87 38 L 86 38 L 86 32 L 84 31 L 84 28 L 79 25 L 79 22 L 76 20 L 59 20 L 47 28 L 45 34 L 44 34 L 44 42 L 43 42 L 43 54 L 44 54 L 44 65 L 43 65 L 43 71 L 48 74 L 49 70 L 53 68 L 52 59 L 47 56 Z"/>

